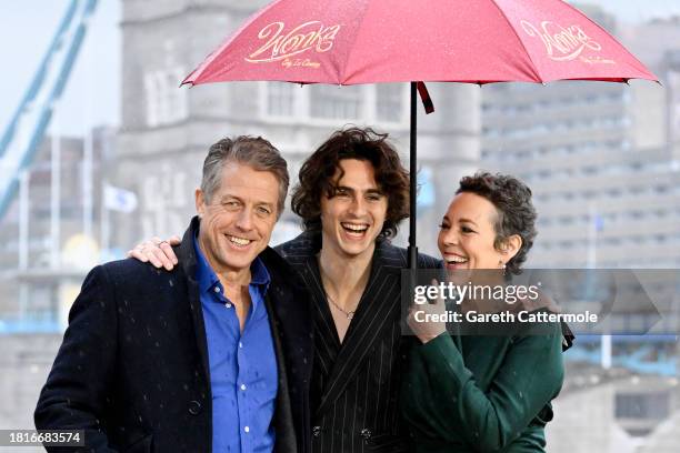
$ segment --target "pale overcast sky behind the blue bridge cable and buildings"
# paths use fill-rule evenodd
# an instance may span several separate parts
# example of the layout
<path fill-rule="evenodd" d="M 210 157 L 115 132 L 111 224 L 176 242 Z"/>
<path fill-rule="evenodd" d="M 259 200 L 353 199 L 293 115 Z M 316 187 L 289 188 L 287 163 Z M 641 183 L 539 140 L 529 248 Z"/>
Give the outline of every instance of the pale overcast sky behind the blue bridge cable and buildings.
<path fill-rule="evenodd" d="M 680 0 L 587 0 L 634 22 L 680 14 Z M 0 131 L 28 89 L 70 0 L 3 1 L 0 7 Z M 121 2 L 99 0 L 86 43 L 62 98 L 63 133 L 82 134 L 91 124 L 118 124 L 120 115 Z M 207 49 L 207 52 L 211 49 Z M 198 63 L 198 62 L 197 62 Z"/>

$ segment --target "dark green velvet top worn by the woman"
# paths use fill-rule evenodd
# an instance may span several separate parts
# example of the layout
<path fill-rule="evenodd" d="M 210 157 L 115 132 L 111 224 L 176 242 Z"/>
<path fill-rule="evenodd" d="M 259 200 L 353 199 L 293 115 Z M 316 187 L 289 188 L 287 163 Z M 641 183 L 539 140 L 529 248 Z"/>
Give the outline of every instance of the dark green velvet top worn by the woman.
<path fill-rule="evenodd" d="M 417 344 L 401 397 L 412 451 L 543 452 L 562 379 L 559 324 L 541 335 L 444 333 Z"/>

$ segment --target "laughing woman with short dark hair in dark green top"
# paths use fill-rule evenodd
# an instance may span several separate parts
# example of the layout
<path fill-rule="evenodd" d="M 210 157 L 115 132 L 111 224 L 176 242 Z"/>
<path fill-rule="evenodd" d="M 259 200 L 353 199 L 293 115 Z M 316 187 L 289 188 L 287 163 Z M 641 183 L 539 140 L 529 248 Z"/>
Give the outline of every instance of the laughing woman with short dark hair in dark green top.
<path fill-rule="evenodd" d="M 531 190 L 520 180 L 491 173 L 463 178 L 438 236 L 449 278 L 509 284 L 533 244 L 536 219 Z M 500 310 L 549 310 L 541 298 L 512 306 L 501 301 Z M 467 298 L 459 313 L 498 314 L 498 306 L 489 311 L 484 302 Z M 441 300 L 420 305 L 408 319 L 420 340 L 410 353 L 401 399 L 413 451 L 543 452 L 550 402 L 563 379 L 561 325 L 503 332 L 494 324 L 492 336 L 450 334 L 443 322 L 422 322 L 417 310 L 442 314 L 446 306 Z"/>

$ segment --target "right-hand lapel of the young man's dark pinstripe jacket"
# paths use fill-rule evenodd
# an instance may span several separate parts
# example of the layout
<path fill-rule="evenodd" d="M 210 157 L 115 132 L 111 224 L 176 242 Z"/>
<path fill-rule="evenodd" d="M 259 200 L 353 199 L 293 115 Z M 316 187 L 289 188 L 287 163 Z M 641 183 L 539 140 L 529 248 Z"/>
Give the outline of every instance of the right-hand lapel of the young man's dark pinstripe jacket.
<path fill-rule="evenodd" d="M 317 414 L 327 410 L 344 391 L 383 331 L 399 322 L 401 304 L 401 256 L 386 242 L 378 243 L 371 263 L 371 274 L 359 308 L 344 336 Z"/>

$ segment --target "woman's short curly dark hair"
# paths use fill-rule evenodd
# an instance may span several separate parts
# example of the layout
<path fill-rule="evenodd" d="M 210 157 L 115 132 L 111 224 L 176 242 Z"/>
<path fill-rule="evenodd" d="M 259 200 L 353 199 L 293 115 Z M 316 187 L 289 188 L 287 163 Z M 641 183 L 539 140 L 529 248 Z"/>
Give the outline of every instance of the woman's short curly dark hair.
<path fill-rule="evenodd" d="M 483 197 L 496 207 L 498 218 L 493 225 L 496 231 L 493 246 L 497 250 L 500 250 L 512 234 L 522 239 L 520 250 L 506 263 L 508 273 L 520 274 L 522 263 L 527 261 L 527 254 L 538 234 L 536 230 L 538 214 L 531 202 L 531 189 L 509 174 L 478 172 L 460 180 L 456 193 L 461 192 Z"/>

